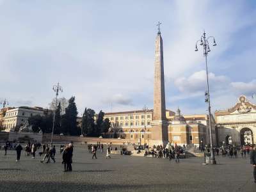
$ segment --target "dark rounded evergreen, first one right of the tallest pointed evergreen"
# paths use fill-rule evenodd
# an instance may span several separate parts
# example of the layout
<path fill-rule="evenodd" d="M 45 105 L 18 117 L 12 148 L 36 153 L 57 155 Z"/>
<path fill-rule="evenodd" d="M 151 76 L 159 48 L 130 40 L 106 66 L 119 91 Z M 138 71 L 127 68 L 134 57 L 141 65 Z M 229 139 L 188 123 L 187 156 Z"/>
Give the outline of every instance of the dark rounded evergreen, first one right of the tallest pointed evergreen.
<path fill-rule="evenodd" d="M 83 114 L 83 132 L 86 134 L 86 136 L 95 136 L 95 111 L 90 108 L 84 109 Z"/>

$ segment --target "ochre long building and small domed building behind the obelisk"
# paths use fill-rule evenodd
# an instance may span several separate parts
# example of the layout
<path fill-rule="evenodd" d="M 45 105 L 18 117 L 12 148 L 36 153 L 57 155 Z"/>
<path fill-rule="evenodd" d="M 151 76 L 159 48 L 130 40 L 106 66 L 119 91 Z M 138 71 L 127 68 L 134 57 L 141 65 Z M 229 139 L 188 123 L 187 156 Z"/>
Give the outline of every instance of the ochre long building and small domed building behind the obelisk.
<path fill-rule="evenodd" d="M 124 138 L 131 143 L 150 143 L 152 141 L 153 109 L 148 111 L 124 111 L 106 113 L 104 118 L 109 118 L 111 128 L 107 134 L 110 138 Z M 212 118 L 214 119 L 214 118 Z M 207 115 L 182 116 L 180 109 L 177 112 L 166 110 L 168 122 L 168 142 L 177 145 L 193 144 L 208 145 L 209 126 Z M 212 122 L 214 127 L 214 122 Z M 212 129 L 213 143 L 216 143 L 215 129 Z"/>

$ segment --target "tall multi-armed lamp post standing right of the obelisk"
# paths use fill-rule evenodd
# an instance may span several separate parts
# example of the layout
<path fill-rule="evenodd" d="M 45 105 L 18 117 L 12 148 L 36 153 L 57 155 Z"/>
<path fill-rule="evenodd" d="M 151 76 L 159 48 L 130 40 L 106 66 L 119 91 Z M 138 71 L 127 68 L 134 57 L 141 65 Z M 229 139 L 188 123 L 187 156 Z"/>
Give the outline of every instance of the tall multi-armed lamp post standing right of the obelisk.
<path fill-rule="evenodd" d="M 212 127 L 211 127 L 211 104 L 210 104 L 210 93 L 209 93 L 209 78 L 208 78 L 208 66 L 207 66 L 207 56 L 208 52 L 211 51 L 209 47 L 209 42 L 208 40 L 212 38 L 213 43 L 212 46 L 216 46 L 215 38 L 214 36 L 205 36 L 206 33 L 204 31 L 203 35 L 201 36 L 200 40 L 196 42 L 196 47 L 195 51 L 198 51 L 197 44 L 200 42 L 199 45 L 203 46 L 204 49 L 204 57 L 205 57 L 205 67 L 206 67 L 206 77 L 207 77 L 207 92 L 205 92 L 205 102 L 208 103 L 208 112 L 209 112 L 209 132 L 210 132 L 210 144 L 211 144 L 211 157 L 210 157 L 210 163 L 211 164 L 216 164 L 216 160 L 214 157 L 214 151 L 213 151 L 213 146 L 212 146 Z"/>

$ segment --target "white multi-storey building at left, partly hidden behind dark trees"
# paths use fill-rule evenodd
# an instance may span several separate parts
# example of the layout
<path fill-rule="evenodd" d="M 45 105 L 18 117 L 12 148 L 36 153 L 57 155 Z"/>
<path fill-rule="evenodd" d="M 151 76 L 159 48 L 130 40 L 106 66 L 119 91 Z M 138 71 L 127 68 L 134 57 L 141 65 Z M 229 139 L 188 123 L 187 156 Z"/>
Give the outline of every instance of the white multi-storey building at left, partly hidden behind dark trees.
<path fill-rule="evenodd" d="M 23 125 L 28 124 L 28 118 L 35 115 L 44 115 L 44 108 L 30 108 L 22 106 L 19 108 L 9 109 L 6 111 L 3 117 L 3 128 L 4 131 L 10 132 L 15 128 L 19 128 Z"/>

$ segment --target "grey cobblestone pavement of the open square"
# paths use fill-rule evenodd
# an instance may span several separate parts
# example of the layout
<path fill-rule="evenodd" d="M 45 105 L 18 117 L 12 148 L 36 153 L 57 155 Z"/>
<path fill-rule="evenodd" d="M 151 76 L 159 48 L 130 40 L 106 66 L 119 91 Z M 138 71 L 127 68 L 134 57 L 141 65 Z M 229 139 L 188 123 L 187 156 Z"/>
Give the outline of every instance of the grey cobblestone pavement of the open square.
<path fill-rule="evenodd" d="M 167 159 L 98 153 L 92 159 L 87 147 L 75 147 L 73 172 L 63 172 L 61 155 L 56 163 L 42 164 L 38 155 L 0 151 L 0 191 L 256 191 L 249 158 L 216 157 L 217 165 L 202 165 L 203 159 Z M 106 147 L 105 147 L 106 148 Z M 57 147 L 57 152 L 59 147 Z M 42 158 L 41 158 L 42 159 Z"/>

